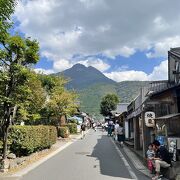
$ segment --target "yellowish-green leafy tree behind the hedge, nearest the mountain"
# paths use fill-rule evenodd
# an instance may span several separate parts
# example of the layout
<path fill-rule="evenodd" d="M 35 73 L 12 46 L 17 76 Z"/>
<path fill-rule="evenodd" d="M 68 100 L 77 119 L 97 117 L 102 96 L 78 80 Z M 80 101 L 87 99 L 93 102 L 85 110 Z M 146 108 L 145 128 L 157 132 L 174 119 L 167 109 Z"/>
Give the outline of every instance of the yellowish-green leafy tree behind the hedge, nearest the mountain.
<path fill-rule="evenodd" d="M 43 111 L 48 120 L 56 119 L 60 123 L 61 116 L 71 115 L 77 110 L 77 94 L 65 89 L 67 80 L 64 77 L 42 75 L 41 81 L 47 92 L 47 102 Z"/>

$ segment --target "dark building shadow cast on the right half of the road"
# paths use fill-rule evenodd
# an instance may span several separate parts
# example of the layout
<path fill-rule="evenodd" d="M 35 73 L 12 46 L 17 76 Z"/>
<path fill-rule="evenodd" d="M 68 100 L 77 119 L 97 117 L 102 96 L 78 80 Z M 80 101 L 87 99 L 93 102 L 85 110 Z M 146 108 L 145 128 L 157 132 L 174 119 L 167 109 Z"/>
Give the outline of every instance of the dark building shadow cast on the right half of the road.
<path fill-rule="evenodd" d="M 99 160 L 101 174 L 113 177 L 131 178 L 128 170 L 115 150 L 110 137 L 102 135 L 97 141 L 92 154 L 87 156 L 95 157 Z M 96 165 L 94 165 L 94 168 L 96 168 Z"/>

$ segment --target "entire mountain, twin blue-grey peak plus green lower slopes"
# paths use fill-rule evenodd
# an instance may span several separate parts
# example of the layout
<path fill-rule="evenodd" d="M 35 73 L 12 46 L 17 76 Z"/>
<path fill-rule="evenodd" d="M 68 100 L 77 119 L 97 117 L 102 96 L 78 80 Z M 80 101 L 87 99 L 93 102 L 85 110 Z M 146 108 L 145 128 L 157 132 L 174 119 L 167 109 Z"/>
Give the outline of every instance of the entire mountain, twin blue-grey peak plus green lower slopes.
<path fill-rule="evenodd" d="M 115 82 L 102 74 L 94 67 L 85 67 L 76 64 L 56 75 L 69 78 L 68 89 L 75 89 L 79 94 L 80 108 L 97 118 L 99 114 L 102 97 L 109 93 L 119 96 L 120 102 L 131 102 L 138 94 L 141 87 L 147 85 L 148 81 L 123 81 Z"/>

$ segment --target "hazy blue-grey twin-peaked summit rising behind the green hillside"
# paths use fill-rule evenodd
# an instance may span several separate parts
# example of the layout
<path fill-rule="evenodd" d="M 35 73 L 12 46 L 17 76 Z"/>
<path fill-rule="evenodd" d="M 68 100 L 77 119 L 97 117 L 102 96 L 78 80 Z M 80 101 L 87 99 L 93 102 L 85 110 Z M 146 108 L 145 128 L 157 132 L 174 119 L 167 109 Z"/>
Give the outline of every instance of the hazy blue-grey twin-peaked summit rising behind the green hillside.
<path fill-rule="evenodd" d="M 70 79 L 67 85 L 69 89 L 83 89 L 98 83 L 115 84 L 116 82 L 107 78 L 100 71 L 92 66 L 86 67 L 82 64 L 76 64 L 72 68 L 67 69 L 57 75 L 63 75 Z"/>

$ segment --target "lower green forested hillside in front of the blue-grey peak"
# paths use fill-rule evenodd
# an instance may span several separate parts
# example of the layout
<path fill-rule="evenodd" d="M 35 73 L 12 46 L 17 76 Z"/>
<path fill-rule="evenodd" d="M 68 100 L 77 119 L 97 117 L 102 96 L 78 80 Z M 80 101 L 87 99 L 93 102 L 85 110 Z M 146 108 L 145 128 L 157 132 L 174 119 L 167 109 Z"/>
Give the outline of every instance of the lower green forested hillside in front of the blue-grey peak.
<path fill-rule="evenodd" d="M 119 96 L 120 103 L 130 103 L 137 97 L 140 88 L 148 83 L 148 81 L 123 81 L 116 84 L 94 84 L 78 91 L 81 110 L 102 118 L 99 115 L 102 97 L 109 93 L 114 93 Z"/>

